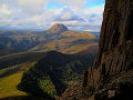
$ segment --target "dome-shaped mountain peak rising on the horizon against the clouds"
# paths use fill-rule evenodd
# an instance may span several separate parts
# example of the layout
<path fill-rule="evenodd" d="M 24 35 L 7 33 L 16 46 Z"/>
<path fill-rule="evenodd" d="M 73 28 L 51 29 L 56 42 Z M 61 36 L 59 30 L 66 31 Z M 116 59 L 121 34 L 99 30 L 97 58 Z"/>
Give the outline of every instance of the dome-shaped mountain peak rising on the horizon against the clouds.
<path fill-rule="evenodd" d="M 63 24 L 54 24 L 50 29 L 49 29 L 49 32 L 50 33 L 62 33 L 62 32 L 65 32 L 65 31 L 68 31 L 68 28 L 63 25 Z"/>

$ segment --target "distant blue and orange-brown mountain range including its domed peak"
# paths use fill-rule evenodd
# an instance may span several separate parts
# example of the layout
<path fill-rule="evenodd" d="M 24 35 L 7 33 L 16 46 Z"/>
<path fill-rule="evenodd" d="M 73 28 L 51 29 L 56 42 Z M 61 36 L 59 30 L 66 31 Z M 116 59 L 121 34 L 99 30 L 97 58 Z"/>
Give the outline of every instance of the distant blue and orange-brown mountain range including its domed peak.
<path fill-rule="evenodd" d="M 5 49 L 12 52 L 57 50 L 64 53 L 77 53 L 90 45 L 97 45 L 94 34 L 71 31 L 63 24 L 54 24 L 45 31 L 0 31 L 0 51 Z"/>

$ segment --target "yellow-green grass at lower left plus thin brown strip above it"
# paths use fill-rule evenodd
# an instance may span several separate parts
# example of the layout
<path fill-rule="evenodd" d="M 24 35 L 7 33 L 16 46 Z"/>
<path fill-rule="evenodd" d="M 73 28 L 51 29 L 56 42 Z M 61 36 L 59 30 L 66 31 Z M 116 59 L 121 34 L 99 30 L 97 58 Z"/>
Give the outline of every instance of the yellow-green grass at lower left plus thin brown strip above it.
<path fill-rule="evenodd" d="M 0 70 L 0 75 L 5 73 L 4 77 L 0 78 L 0 100 L 7 97 L 28 96 L 28 94 L 19 91 L 17 85 L 20 83 L 23 72 L 28 70 L 35 62 L 26 62 L 21 65 L 12 66 Z M 7 74 L 9 71 L 13 71 L 11 74 Z"/>

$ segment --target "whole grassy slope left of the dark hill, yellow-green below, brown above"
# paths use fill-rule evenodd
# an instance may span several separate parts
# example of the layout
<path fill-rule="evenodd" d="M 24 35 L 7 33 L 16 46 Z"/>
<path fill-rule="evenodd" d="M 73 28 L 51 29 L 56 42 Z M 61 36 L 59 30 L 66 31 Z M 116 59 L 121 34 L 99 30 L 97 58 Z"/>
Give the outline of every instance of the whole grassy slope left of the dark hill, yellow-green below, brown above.
<path fill-rule="evenodd" d="M 34 65 L 34 63 L 43 55 L 44 53 L 39 52 L 22 54 L 17 53 L 11 56 L 5 56 L 0 58 L 0 62 L 4 62 L 3 65 L 7 65 L 8 62 L 13 62 L 12 64 L 9 64 L 11 66 L 6 67 L 4 65 L 3 69 L 0 69 L 0 100 L 7 97 L 28 96 L 28 94 L 17 90 L 17 85 L 21 81 L 23 72 L 25 70 L 28 70 L 32 65 Z M 27 57 L 29 58 L 28 60 Z M 17 63 L 18 59 L 22 60 L 22 64 Z M 26 61 L 23 61 L 23 59 L 26 59 Z"/>

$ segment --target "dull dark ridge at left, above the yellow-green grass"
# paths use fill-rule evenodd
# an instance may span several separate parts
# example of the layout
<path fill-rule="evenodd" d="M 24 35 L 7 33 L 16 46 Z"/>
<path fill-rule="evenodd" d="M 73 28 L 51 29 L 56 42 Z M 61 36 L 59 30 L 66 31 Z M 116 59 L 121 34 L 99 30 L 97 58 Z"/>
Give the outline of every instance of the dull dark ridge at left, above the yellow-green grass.
<path fill-rule="evenodd" d="M 21 52 L 0 57 L 0 69 L 22 64 L 25 62 L 38 61 L 44 52 Z"/>

